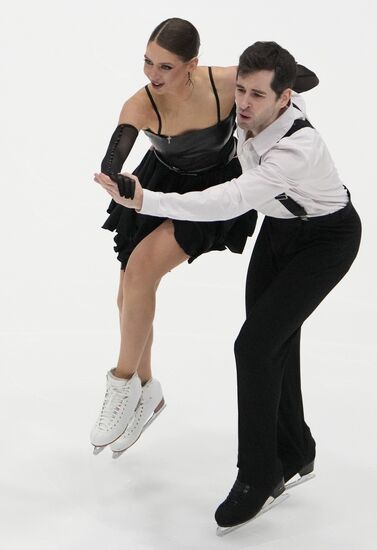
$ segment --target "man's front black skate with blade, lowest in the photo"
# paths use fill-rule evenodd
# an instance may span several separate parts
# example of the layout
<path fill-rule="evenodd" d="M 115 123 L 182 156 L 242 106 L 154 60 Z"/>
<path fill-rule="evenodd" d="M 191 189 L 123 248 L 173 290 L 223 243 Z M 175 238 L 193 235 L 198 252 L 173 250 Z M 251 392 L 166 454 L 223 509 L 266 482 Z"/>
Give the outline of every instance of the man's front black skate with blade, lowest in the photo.
<path fill-rule="evenodd" d="M 217 508 L 217 535 L 224 536 L 264 514 L 288 498 L 283 479 L 274 489 L 251 487 L 236 480 L 228 497 Z"/>

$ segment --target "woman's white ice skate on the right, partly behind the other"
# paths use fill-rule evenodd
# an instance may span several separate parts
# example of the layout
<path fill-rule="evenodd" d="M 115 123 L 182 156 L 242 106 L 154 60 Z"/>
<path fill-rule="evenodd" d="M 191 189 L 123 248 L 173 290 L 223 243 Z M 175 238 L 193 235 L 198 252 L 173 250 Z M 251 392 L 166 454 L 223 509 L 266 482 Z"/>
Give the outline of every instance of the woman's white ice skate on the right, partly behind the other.
<path fill-rule="evenodd" d="M 124 451 L 136 443 L 141 434 L 166 407 L 161 384 L 151 378 L 142 388 L 139 404 L 134 417 L 125 432 L 111 445 L 113 458 L 119 458 Z"/>

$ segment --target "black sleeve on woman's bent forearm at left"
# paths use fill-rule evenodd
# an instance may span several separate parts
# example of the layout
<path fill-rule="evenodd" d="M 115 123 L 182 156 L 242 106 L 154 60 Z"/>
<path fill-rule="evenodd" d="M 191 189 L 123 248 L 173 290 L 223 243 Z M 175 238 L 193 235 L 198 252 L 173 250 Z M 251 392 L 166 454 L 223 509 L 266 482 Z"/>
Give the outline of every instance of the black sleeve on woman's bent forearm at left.
<path fill-rule="evenodd" d="M 103 174 L 118 174 L 130 154 L 139 130 L 131 124 L 120 124 L 111 136 L 106 155 L 101 163 Z"/>

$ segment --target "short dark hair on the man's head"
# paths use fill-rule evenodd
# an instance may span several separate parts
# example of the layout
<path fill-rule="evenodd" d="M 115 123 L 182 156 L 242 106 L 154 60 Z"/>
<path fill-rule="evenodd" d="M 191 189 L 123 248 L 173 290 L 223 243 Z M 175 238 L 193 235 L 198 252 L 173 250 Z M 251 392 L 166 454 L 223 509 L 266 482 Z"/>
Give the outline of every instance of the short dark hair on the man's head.
<path fill-rule="evenodd" d="M 271 88 L 278 97 L 296 81 L 296 61 L 293 55 L 276 42 L 255 42 L 241 54 L 237 76 L 257 71 L 275 71 Z"/>

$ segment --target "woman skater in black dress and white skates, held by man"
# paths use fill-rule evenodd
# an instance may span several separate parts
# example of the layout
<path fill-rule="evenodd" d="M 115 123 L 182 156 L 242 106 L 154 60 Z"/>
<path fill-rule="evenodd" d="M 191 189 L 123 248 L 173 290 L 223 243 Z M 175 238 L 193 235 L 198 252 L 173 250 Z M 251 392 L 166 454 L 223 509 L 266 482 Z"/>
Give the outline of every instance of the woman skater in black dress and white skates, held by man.
<path fill-rule="evenodd" d="M 201 191 L 241 174 L 235 156 L 234 90 L 236 67 L 198 66 L 199 35 L 188 21 L 173 18 L 153 31 L 144 73 L 150 81 L 123 106 L 101 165 L 117 174 L 138 132 L 152 142 L 135 170 L 149 189 Z M 296 91 L 318 83 L 300 68 Z M 119 456 L 165 406 L 161 386 L 152 378 L 151 346 L 155 294 L 161 278 L 204 252 L 241 253 L 256 223 L 254 210 L 226 222 L 186 222 L 137 215 L 111 202 L 104 228 L 116 230 L 121 262 L 118 293 L 121 345 L 118 363 L 107 374 L 107 391 L 91 433 L 97 454 L 112 444 Z"/>

